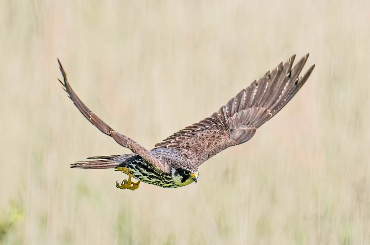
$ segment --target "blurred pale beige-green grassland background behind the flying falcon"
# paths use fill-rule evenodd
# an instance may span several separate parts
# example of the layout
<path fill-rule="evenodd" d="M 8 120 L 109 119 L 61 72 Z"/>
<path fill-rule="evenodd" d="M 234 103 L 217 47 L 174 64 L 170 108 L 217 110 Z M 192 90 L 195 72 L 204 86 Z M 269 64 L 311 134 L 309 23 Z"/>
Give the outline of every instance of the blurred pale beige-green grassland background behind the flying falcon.
<path fill-rule="evenodd" d="M 369 1 L 0 1 L 0 243 L 370 244 Z M 148 149 L 292 54 L 307 84 L 198 183 L 115 188 L 125 154 L 61 89 Z"/>

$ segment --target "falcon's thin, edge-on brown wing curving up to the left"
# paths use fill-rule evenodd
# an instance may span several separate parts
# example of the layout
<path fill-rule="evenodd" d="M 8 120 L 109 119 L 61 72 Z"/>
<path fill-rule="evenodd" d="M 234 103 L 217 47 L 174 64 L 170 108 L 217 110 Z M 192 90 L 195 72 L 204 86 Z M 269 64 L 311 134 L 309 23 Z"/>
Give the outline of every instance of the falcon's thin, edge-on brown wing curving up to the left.
<path fill-rule="evenodd" d="M 168 165 L 165 164 L 165 162 L 160 161 L 158 158 L 152 155 L 147 149 L 139 145 L 134 140 L 131 140 L 127 136 L 122 135 L 117 131 L 114 131 L 104 121 L 102 121 L 97 115 L 95 115 L 92 111 L 90 111 L 90 109 L 86 107 L 86 105 L 80 100 L 80 98 L 77 97 L 77 95 L 74 93 L 71 86 L 69 85 L 68 80 L 67 80 L 67 74 L 65 74 L 65 71 L 59 59 L 58 59 L 58 63 L 59 63 L 60 71 L 63 75 L 64 82 L 62 82 L 59 79 L 58 80 L 64 86 L 64 90 L 67 92 L 68 97 L 70 97 L 70 99 L 73 101 L 73 104 L 78 108 L 78 110 L 80 110 L 80 112 L 84 115 L 85 118 L 87 118 L 87 120 L 89 120 L 92 124 L 94 124 L 95 127 L 97 127 L 104 134 L 107 134 L 113 137 L 114 140 L 117 141 L 118 144 L 140 155 L 142 158 L 144 158 L 146 161 L 153 164 L 159 170 L 169 173 Z"/>

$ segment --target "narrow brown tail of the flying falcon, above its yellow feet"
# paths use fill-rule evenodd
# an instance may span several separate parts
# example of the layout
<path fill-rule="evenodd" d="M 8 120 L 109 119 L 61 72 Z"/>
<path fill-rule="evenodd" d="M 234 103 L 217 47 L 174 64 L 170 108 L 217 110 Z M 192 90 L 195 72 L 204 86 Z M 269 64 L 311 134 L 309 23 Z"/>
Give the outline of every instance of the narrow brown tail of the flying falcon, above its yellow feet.
<path fill-rule="evenodd" d="M 111 155 L 111 156 L 101 156 L 101 157 L 88 157 L 86 161 L 74 162 L 71 164 L 71 168 L 115 168 L 127 158 L 134 156 L 135 154 L 125 154 L 125 155 Z"/>

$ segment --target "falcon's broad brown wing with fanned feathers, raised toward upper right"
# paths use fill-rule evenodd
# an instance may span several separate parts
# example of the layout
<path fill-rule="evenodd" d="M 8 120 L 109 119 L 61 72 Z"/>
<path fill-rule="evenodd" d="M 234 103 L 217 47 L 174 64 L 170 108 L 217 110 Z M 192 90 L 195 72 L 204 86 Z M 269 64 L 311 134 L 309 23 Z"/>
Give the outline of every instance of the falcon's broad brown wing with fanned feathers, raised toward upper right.
<path fill-rule="evenodd" d="M 299 77 L 308 54 L 293 68 L 295 55 L 280 63 L 260 80 L 240 91 L 211 117 L 188 126 L 156 144 L 157 148 L 176 148 L 199 166 L 226 148 L 242 144 L 263 123 L 280 111 L 306 82 L 314 65 Z"/>

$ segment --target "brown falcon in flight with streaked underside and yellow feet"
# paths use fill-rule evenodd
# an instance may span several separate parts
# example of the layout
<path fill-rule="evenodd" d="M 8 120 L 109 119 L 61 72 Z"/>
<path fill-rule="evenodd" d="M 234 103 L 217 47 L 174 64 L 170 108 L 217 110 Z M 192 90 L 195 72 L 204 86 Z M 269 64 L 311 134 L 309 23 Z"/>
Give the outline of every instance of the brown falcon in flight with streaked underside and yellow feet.
<path fill-rule="evenodd" d="M 136 141 L 113 130 L 77 97 L 59 63 L 63 81 L 58 79 L 68 97 L 87 120 L 131 154 L 89 157 L 71 164 L 71 168 L 114 168 L 128 175 L 116 182 L 120 189 L 135 190 L 140 181 L 164 188 L 177 188 L 198 180 L 198 167 L 218 152 L 242 144 L 253 137 L 257 128 L 278 113 L 305 84 L 315 65 L 303 77 L 299 74 L 309 54 L 293 66 L 295 55 L 268 71 L 258 81 L 231 98 L 217 112 L 200 122 L 175 132 L 148 151 Z M 133 182 L 132 178 L 137 179 Z"/>

